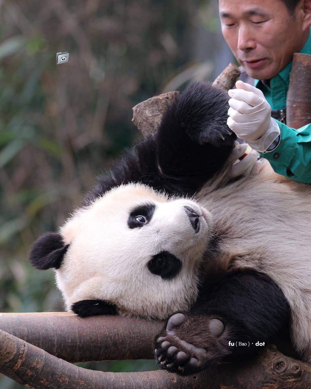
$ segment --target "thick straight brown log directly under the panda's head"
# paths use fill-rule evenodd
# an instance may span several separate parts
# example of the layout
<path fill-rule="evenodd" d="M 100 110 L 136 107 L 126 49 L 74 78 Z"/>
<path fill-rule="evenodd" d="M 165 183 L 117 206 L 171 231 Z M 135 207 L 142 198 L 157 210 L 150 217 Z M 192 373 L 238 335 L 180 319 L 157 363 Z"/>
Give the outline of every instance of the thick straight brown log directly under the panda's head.
<path fill-rule="evenodd" d="M 0 329 L 68 362 L 153 359 L 163 322 L 70 312 L 0 314 Z"/>

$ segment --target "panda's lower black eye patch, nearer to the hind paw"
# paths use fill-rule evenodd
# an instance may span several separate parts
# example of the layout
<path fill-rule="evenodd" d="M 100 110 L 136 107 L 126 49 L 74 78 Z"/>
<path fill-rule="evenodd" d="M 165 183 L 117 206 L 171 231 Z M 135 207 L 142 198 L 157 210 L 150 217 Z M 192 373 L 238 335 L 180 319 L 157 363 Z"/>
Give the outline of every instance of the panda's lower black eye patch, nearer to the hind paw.
<path fill-rule="evenodd" d="M 168 251 L 162 251 L 150 259 L 148 269 L 151 273 L 161 276 L 164 280 L 174 278 L 181 270 L 180 259 Z"/>

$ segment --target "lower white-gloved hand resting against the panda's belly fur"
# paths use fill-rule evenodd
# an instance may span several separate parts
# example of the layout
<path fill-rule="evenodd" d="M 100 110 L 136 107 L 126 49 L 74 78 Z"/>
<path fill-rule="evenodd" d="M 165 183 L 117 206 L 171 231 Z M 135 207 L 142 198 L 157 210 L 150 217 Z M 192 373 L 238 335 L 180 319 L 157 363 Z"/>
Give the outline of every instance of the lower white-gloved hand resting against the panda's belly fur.
<path fill-rule="evenodd" d="M 259 172 L 259 169 L 257 169 L 256 162 L 257 158 L 259 156 L 259 153 L 256 150 L 252 150 L 249 152 L 242 161 L 239 161 L 239 158 L 241 158 L 247 149 L 248 144 L 243 143 L 241 145 L 237 145 L 232 150 L 232 159 L 236 161 L 236 163 L 232 166 L 231 170 L 231 177 L 237 177 L 238 175 L 248 175 L 250 173 L 257 174 Z"/>

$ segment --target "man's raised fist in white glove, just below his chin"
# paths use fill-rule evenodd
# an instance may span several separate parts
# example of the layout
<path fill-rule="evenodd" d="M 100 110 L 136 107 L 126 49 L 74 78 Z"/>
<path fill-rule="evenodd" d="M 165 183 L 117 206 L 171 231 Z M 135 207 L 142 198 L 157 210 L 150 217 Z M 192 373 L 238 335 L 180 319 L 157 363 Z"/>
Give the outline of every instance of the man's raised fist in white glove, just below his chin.
<path fill-rule="evenodd" d="M 260 89 L 243 81 L 237 81 L 236 88 L 228 91 L 227 125 L 253 149 L 264 152 L 280 135 L 271 107 Z"/>

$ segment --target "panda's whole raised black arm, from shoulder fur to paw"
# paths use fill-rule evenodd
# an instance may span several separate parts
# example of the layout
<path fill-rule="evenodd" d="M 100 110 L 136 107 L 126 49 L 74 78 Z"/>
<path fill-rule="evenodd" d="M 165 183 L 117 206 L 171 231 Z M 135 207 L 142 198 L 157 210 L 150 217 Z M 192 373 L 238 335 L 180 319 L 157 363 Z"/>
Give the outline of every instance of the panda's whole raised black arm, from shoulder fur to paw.
<path fill-rule="evenodd" d="M 156 137 L 126 151 L 98 177 L 86 203 L 129 182 L 192 196 L 231 154 L 236 135 L 227 127 L 227 100 L 227 93 L 210 84 L 190 85 L 164 113 Z"/>

